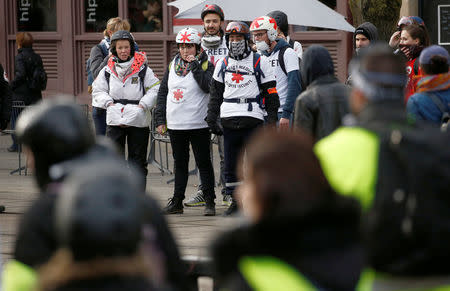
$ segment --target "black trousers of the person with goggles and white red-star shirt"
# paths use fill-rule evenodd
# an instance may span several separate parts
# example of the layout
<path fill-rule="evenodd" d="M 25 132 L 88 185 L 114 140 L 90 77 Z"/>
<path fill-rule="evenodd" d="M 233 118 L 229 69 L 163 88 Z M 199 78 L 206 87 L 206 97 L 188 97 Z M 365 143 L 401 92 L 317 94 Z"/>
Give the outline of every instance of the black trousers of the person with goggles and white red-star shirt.
<path fill-rule="evenodd" d="M 239 155 L 257 128 L 258 126 L 242 129 L 223 128 L 226 195 L 233 195 L 236 186 L 239 184 L 236 174 Z"/>

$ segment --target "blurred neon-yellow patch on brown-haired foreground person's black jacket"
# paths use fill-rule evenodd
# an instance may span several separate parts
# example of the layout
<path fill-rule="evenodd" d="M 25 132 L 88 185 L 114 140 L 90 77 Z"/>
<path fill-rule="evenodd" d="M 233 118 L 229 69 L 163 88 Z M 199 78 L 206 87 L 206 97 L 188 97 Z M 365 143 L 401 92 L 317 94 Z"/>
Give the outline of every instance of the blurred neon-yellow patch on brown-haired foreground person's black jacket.
<path fill-rule="evenodd" d="M 291 265 L 274 257 L 244 257 L 239 270 L 253 290 L 317 291 L 318 289 Z"/>

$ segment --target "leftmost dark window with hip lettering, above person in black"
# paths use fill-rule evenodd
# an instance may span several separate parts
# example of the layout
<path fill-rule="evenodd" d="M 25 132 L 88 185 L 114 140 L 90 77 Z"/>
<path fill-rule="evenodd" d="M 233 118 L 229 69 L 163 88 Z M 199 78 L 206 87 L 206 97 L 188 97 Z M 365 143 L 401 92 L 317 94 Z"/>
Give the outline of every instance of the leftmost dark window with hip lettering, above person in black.
<path fill-rule="evenodd" d="M 17 0 L 18 31 L 56 31 L 56 0 Z"/>

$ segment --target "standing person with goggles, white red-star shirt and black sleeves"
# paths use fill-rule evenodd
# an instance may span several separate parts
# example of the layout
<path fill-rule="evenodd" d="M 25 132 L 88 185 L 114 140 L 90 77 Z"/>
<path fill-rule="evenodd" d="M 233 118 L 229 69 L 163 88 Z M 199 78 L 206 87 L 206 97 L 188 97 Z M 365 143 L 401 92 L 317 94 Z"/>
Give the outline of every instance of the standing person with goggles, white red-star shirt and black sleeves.
<path fill-rule="evenodd" d="M 230 22 L 225 31 L 228 56 L 217 64 L 211 82 L 206 121 L 214 134 L 224 135 L 225 192 L 233 197 L 239 184 L 236 177 L 238 155 L 253 131 L 277 120 L 279 97 L 275 76 L 265 57 L 249 47 L 249 28 L 243 22 Z M 217 119 L 220 116 L 219 126 Z M 225 215 L 237 211 L 233 198 Z"/>

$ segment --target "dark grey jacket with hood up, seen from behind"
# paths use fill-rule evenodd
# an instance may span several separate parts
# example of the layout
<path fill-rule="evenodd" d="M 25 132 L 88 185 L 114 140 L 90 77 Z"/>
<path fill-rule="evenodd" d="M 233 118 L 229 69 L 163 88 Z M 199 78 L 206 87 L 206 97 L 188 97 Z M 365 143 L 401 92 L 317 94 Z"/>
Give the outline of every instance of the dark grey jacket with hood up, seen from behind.
<path fill-rule="evenodd" d="M 307 89 L 295 102 L 294 124 L 319 140 L 349 113 L 349 87 L 334 76 L 333 60 L 323 46 L 313 45 L 303 54 L 301 75 Z"/>

